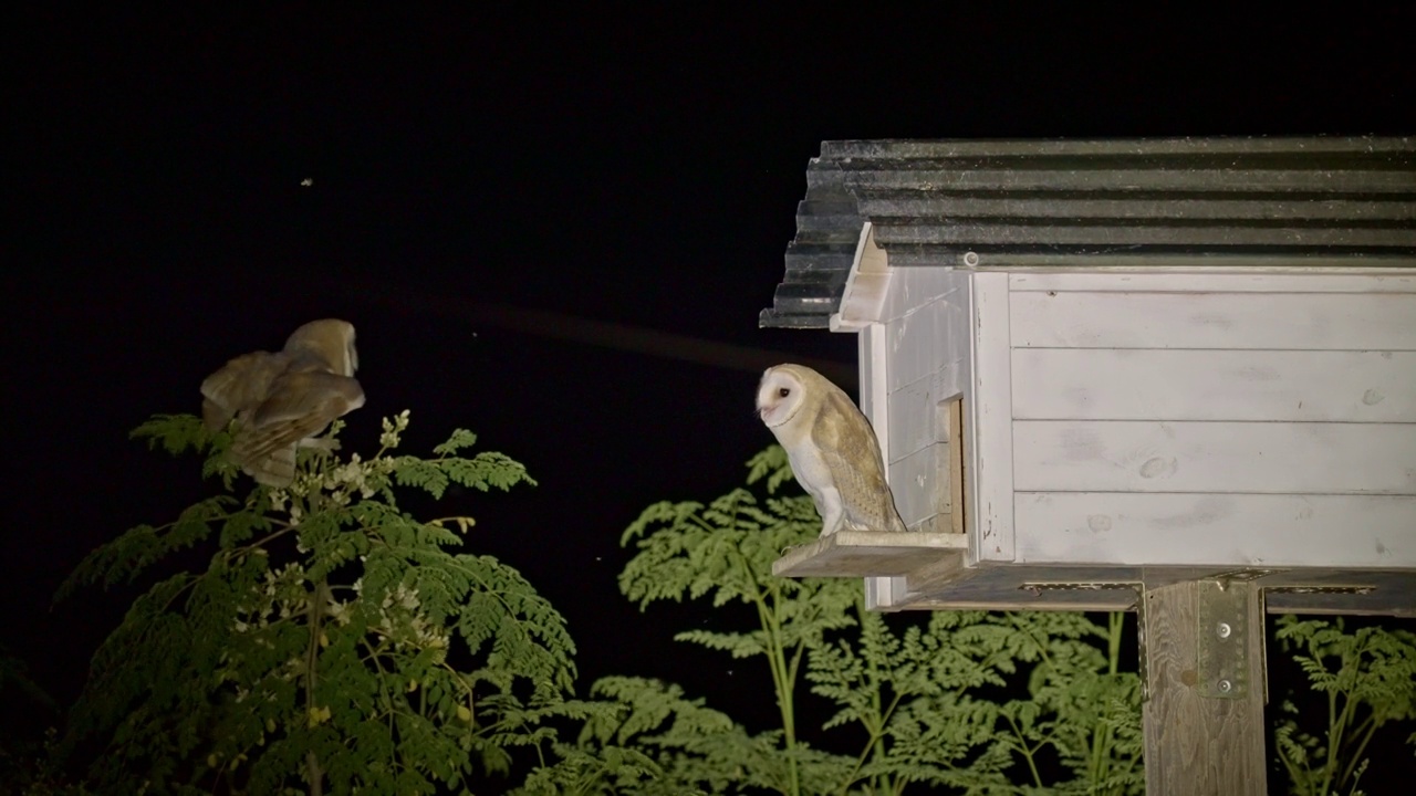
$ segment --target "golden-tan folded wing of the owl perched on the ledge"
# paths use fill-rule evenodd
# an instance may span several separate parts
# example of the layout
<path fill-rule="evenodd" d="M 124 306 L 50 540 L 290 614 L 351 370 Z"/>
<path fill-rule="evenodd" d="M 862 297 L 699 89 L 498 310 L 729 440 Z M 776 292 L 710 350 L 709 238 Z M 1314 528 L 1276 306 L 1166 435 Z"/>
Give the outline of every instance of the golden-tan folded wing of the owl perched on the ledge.
<path fill-rule="evenodd" d="M 855 531 L 903 531 L 895 499 L 885 483 L 879 442 L 865 415 L 844 392 L 826 395 L 821 419 L 811 432 L 811 442 L 831 470 L 831 480 L 841 493 L 845 524 Z"/>

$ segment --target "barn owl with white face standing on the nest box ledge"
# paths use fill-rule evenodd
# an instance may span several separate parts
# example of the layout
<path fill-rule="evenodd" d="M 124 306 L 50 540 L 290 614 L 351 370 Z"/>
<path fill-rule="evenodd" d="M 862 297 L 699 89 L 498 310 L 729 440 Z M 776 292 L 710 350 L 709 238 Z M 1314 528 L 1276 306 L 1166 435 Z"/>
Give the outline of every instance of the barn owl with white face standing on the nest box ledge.
<path fill-rule="evenodd" d="M 770 367 L 758 385 L 758 415 L 816 501 L 823 537 L 905 530 L 875 432 L 840 387 L 804 365 Z"/>

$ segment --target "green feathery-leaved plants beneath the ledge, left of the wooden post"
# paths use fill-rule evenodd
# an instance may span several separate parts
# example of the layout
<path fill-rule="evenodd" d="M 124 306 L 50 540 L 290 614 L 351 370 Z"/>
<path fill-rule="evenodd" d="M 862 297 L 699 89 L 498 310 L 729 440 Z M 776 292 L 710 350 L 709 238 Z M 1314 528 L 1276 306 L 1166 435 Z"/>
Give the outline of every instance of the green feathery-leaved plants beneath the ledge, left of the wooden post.
<path fill-rule="evenodd" d="M 684 598 L 714 608 L 749 605 L 753 629 L 688 630 L 677 639 L 762 659 L 780 727 L 749 734 L 677 686 L 605 678 L 592 693 L 619 712 L 596 715 L 576 745 L 558 751 L 566 763 L 578 755 L 579 772 L 606 749 L 643 756 L 615 790 L 582 792 L 796 796 L 903 793 L 912 783 L 971 793 L 1143 789 L 1138 683 L 1117 669 L 1120 615 L 1106 627 L 1068 613 L 932 612 L 922 623 L 865 610 L 851 579 L 776 578 L 772 562 L 816 538 L 820 518 L 809 497 L 772 494 L 792 477 L 780 448 L 748 466 L 749 486 L 765 482 L 767 494 L 735 489 L 708 504 L 644 510 L 623 535 L 639 554 L 622 572 L 620 589 L 640 608 Z M 1024 687 L 1027 700 L 997 700 Z M 835 705 L 821 727 L 823 744 L 854 752 L 807 742 L 813 728 L 799 718 L 803 690 Z M 1045 776 L 1038 761 L 1046 755 L 1061 759 L 1070 779 Z M 1018 779 L 1032 785 L 1012 785 Z"/>

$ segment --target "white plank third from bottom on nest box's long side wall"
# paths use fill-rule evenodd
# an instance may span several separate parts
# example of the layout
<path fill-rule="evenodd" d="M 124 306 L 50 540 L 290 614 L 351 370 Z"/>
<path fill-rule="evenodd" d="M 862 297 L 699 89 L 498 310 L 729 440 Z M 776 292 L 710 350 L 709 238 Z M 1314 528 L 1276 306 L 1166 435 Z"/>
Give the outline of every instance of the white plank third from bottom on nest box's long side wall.
<path fill-rule="evenodd" d="M 1015 348 L 1018 419 L 1416 422 L 1416 353 Z"/>

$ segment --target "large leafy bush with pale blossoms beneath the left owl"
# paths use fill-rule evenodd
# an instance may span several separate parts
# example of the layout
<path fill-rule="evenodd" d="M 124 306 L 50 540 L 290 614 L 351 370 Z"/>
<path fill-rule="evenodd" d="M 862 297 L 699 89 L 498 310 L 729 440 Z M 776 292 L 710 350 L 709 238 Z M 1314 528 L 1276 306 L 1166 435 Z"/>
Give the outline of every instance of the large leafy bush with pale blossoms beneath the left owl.
<path fill-rule="evenodd" d="M 68 742 L 102 744 L 101 790 L 460 789 L 554 742 L 547 718 L 593 715 L 568 698 L 561 615 L 515 569 L 453 552 L 470 517 L 421 521 L 395 500 L 534 482 L 500 453 L 460 455 L 476 439 L 462 429 L 432 459 L 394 455 L 406 426 L 406 411 L 385 419 L 370 459 L 302 449 L 290 487 L 245 497 L 228 433 L 190 415 L 133 432 L 205 452 L 227 493 L 99 547 L 61 588 L 132 581 L 184 548 L 207 561 L 157 579 L 93 657 Z"/>

